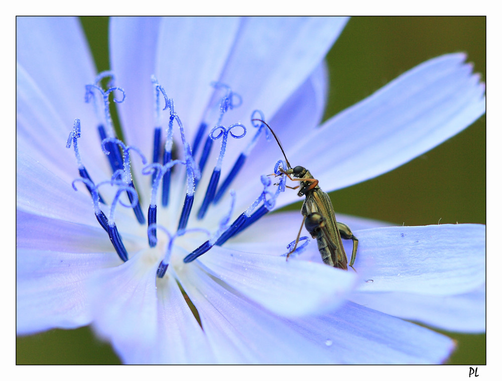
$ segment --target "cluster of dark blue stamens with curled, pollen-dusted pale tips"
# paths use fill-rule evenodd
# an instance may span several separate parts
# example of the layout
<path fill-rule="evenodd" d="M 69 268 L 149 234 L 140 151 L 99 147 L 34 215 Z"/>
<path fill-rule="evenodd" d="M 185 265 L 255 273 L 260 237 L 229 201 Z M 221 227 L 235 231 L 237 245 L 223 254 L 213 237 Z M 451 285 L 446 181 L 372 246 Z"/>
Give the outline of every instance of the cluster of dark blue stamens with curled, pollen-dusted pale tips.
<path fill-rule="evenodd" d="M 111 77 L 110 84 L 108 84 L 109 87 L 106 90 L 99 85 L 101 80 L 105 77 Z M 122 241 L 122 236 L 119 233 L 115 221 L 117 206 L 132 208 L 140 227 L 145 225 L 145 222 L 147 223 L 144 231 L 151 248 L 157 247 L 158 245 L 162 246 L 161 250 L 163 251 L 162 255 L 159 256 L 160 263 L 157 270 L 157 277 L 159 278 L 164 277 L 166 274 L 171 261 L 173 244 L 177 238 L 192 232 L 202 232 L 208 236 L 205 242 L 196 248 L 192 248 L 192 251 L 184 258 L 184 263 L 190 263 L 210 250 L 214 245 L 220 246 L 224 244 L 228 239 L 256 222 L 274 207 L 277 197 L 285 189 L 286 177 L 283 172 L 281 172 L 281 169 L 285 167 L 285 163 L 282 160 L 276 163 L 274 170 L 276 176 L 279 176 L 279 181 L 272 184 L 270 177 L 262 176 L 261 181 L 263 190 L 260 195 L 244 212 L 231 222 L 235 205 L 235 192 L 229 190 L 229 187 L 242 169 L 250 151 L 257 144 L 260 135 L 265 133 L 267 140 L 269 140 L 270 137 L 266 124 L 261 121 L 265 119 L 263 113 L 259 110 L 254 111 L 250 119 L 252 119 L 251 123 L 257 129 L 256 134 L 249 140 L 247 146 L 242 150 L 223 181 L 220 181 L 221 166 L 224 160 L 225 150 L 227 144 L 230 142 L 228 138 L 238 140 L 243 138 L 247 133 L 247 129 L 240 122 L 233 123 L 227 127 L 221 124 L 223 115 L 228 110 L 242 103 L 240 96 L 232 92 L 229 86 L 219 82 L 211 84 L 215 89 L 215 93 L 220 94 L 220 96 L 214 97 L 218 99 L 218 101 L 214 105 L 209 106 L 206 110 L 206 116 L 199 125 L 193 145 L 190 146 L 185 137 L 185 130 L 181 118 L 174 109 L 173 99 L 167 96 L 164 88 L 158 83 L 157 79 L 152 76 L 152 84 L 156 94 L 156 99 L 154 100 L 156 106 L 156 126 L 153 131 L 153 158 L 152 162 L 148 163 L 145 155 L 137 147 L 127 146 L 114 135 L 112 119 L 109 112 L 109 95 L 113 92 L 121 93 L 121 99 L 113 98 L 113 100 L 116 103 L 122 103 L 126 99 L 126 92 L 120 87 L 113 86 L 111 84 L 112 81 L 113 75 L 110 72 L 103 72 L 96 77 L 93 84 L 86 86 L 85 94 L 86 102 L 93 102 L 95 112 L 99 120 L 101 120 L 97 126 L 97 131 L 101 141 L 101 150 L 105 154 L 108 166 L 111 169 L 111 177 L 99 183 L 95 183 L 83 165 L 78 148 L 78 139 L 81 136 L 79 119 L 75 119 L 74 121 L 73 129 L 68 137 L 66 147 L 70 148 L 73 146 L 80 175 L 80 177 L 73 181 L 72 186 L 77 190 L 75 185 L 77 182 L 82 182 L 85 185 L 92 196 L 96 219 L 105 230 L 105 233 L 108 234 L 111 244 L 117 252 L 118 257 L 123 262 L 128 261 L 129 254 L 127 247 Z M 165 104 L 162 110 L 161 104 Z M 167 125 L 163 128 L 162 111 L 166 110 L 168 110 L 169 119 L 166 123 Z M 211 124 L 214 125 L 214 127 L 208 133 L 208 126 Z M 173 130 L 175 125 L 181 136 L 182 147 L 179 150 L 181 151 L 179 155 L 181 159 L 176 158 L 177 155 L 175 154 L 176 145 L 173 142 Z M 210 171 L 206 164 L 208 163 L 212 146 L 218 140 L 220 141 L 218 159 L 216 165 L 212 169 L 209 183 L 207 187 L 203 189 L 199 181 L 204 171 Z M 199 149 L 201 149 L 201 154 L 198 162 L 196 162 L 195 156 Z M 151 177 L 149 181 L 150 203 L 146 213 L 146 219 L 143 212 L 142 201 L 140 201 L 138 191 L 133 181 L 133 179 L 138 180 L 133 176 L 131 169 L 131 154 L 133 152 L 134 155 L 140 157 L 143 165 L 140 176 Z M 184 176 L 173 177 L 173 171 L 177 171 L 180 168 L 183 168 L 182 174 Z M 173 181 L 174 179 L 183 178 L 186 179 L 186 192 L 184 192 L 183 207 L 179 214 L 178 228 L 173 232 L 169 231 L 160 223 L 163 219 L 159 218 L 159 215 L 166 214 L 172 216 L 172 210 L 169 211 L 169 199 Z M 109 199 L 106 199 L 100 194 L 99 188 L 105 185 L 112 187 L 114 192 L 112 198 L 108 197 Z M 127 198 L 123 193 L 127 195 Z M 220 216 L 223 215 L 223 217 L 219 221 L 211 223 L 211 221 L 214 220 L 214 216 L 212 213 L 208 213 L 209 208 L 211 205 L 218 206 L 220 200 L 227 193 L 231 196 L 231 205 L 228 211 L 216 213 Z M 202 202 L 198 210 L 192 213 L 194 198 L 196 196 L 201 197 Z M 157 204 L 159 198 L 161 201 L 160 205 Z M 178 205 L 181 205 L 181 197 Z M 171 207 L 177 208 L 178 205 L 172 205 Z M 106 213 L 103 209 L 105 209 Z M 189 221 L 193 220 L 194 217 L 196 218 L 194 226 L 190 226 Z M 209 223 L 205 225 L 210 225 L 211 229 L 199 227 L 200 224 L 198 221 L 209 221 Z M 122 223 L 124 222 L 119 221 L 119 224 Z M 167 239 L 159 239 L 157 237 L 159 231 L 162 231 L 162 234 L 165 234 Z"/>

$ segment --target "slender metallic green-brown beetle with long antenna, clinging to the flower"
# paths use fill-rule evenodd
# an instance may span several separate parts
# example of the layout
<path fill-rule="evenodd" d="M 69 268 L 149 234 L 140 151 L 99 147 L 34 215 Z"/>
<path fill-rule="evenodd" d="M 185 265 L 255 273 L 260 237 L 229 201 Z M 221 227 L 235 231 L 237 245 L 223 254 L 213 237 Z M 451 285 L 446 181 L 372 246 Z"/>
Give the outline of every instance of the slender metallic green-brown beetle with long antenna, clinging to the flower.
<path fill-rule="evenodd" d="M 253 119 L 260 120 L 261 119 Z M 322 262 L 328 266 L 336 267 L 339 269 L 347 270 L 347 255 L 343 248 L 341 239 L 352 239 L 352 256 L 350 258 L 350 266 L 353 269 L 353 264 L 355 261 L 355 256 L 357 252 L 357 244 L 359 240 L 352 234 L 350 228 L 344 223 L 337 222 L 335 218 L 335 212 L 331 200 L 327 193 L 323 192 L 319 187 L 319 180 L 315 179 L 310 171 L 302 166 L 296 166 L 292 168 L 289 164 L 288 158 L 284 153 L 284 150 L 279 142 L 274 131 L 270 126 L 265 123 L 269 130 L 274 135 L 279 148 L 281 149 L 284 158 L 286 159 L 287 170 L 281 169 L 281 173 L 288 176 L 292 181 L 300 181 L 300 185 L 293 187 L 292 189 L 297 189 L 298 196 L 305 196 L 305 201 L 302 206 L 303 221 L 300 226 L 300 231 L 296 237 L 294 247 L 288 252 L 286 260 L 289 258 L 292 252 L 296 250 L 298 242 L 300 240 L 300 233 L 302 227 L 305 224 L 305 228 L 312 235 L 313 238 L 317 240 L 317 247 L 321 253 Z M 293 179 L 291 176 L 296 177 Z"/>

